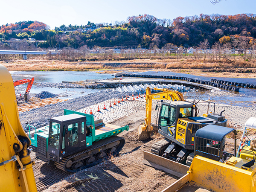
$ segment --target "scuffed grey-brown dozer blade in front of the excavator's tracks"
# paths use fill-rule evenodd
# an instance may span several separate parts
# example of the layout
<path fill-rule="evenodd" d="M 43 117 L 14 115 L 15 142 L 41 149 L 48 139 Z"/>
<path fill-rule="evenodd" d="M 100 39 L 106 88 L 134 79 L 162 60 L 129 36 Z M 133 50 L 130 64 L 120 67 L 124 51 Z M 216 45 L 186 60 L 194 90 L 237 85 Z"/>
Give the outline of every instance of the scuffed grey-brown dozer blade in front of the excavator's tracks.
<path fill-rule="evenodd" d="M 144 164 L 154 167 L 156 169 L 163 170 L 177 177 L 183 177 L 187 174 L 189 170 L 189 166 L 183 165 L 181 163 L 177 163 L 175 161 L 160 157 L 147 151 L 143 151 L 143 153 L 144 159 L 142 162 Z"/>

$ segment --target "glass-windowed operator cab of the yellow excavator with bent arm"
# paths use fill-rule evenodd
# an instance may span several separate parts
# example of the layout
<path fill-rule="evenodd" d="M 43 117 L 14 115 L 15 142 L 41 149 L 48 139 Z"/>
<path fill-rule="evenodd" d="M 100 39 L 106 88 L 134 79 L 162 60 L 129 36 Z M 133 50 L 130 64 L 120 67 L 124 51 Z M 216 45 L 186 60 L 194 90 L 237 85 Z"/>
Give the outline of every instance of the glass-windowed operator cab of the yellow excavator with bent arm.
<path fill-rule="evenodd" d="M 162 102 L 158 128 L 170 136 L 175 135 L 177 119 L 192 116 L 193 104 L 183 101 Z"/>

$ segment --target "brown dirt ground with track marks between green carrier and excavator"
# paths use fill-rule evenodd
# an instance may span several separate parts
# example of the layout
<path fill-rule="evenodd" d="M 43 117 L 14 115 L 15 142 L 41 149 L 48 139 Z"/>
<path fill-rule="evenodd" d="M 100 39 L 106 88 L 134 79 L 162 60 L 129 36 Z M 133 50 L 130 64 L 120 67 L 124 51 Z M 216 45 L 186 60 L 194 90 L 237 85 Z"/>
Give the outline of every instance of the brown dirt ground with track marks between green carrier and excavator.
<path fill-rule="evenodd" d="M 141 110 L 135 117 L 127 116 L 112 122 L 119 126 L 129 125 L 129 131 L 119 134 L 125 138 L 125 146 L 118 157 L 89 169 L 65 175 L 65 172 L 36 160 L 34 172 L 38 191 L 158 192 L 175 182 L 177 177 L 142 163 L 143 151 L 150 151 L 151 145 L 162 139 L 160 134 L 154 133 L 149 140 L 137 140 L 137 127 L 144 122 L 144 116 L 145 111 Z M 41 168 L 35 170 L 35 167 Z"/>

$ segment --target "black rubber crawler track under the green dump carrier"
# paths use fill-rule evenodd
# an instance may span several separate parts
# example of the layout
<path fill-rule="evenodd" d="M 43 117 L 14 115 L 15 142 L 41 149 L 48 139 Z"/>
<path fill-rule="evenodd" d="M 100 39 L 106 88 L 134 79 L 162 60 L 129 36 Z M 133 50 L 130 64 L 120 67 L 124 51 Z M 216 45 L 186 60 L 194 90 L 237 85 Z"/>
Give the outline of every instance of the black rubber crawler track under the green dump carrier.
<path fill-rule="evenodd" d="M 75 154 L 69 155 L 69 156 L 67 156 L 67 157 L 64 157 L 64 158 L 61 160 L 60 163 L 55 162 L 55 165 L 56 165 L 56 167 L 57 167 L 58 169 L 61 169 L 61 170 L 63 170 L 63 171 L 67 171 L 67 172 L 77 172 L 77 171 L 79 171 L 79 170 L 81 170 L 81 169 L 86 169 L 86 168 L 88 168 L 88 167 L 92 167 L 92 166 L 94 166 L 94 165 L 96 165 L 96 164 L 102 162 L 103 160 L 109 159 L 110 156 L 107 156 L 107 157 L 105 157 L 105 158 L 101 158 L 101 159 L 97 160 L 96 162 L 90 163 L 90 165 L 83 166 L 82 168 L 77 169 L 77 170 L 73 170 L 71 167 L 70 167 L 70 169 L 68 169 L 68 168 L 66 167 L 66 164 L 67 164 L 67 161 L 68 161 L 68 160 L 70 160 L 70 159 L 72 159 L 72 158 L 74 158 L 74 157 L 78 157 L 78 156 L 80 156 L 80 155 L 82 155 L 82 154 L 84 154 L 84 153 L 87 153 L 87 152 L 89 152 L 89 151 L 95 150 L 95 149 L 97 149 L 97 148 L 101 148 L 101 147 L 103 147 L 103 146 L 105 146 L 105 145 L 108 145 L 108 144 L 110 144 L 110 143 L 114 143 L 114 142 L 116 142 L 116 141 L 120 141 L 120 143 L 119 143 L 119 145 L 117 145 L 116 151 L 111 154 L 112 156 L 114 156 L 114 155 L 118 154 L 119 151 L 121 151 L 122 147 L 125 145 L 125 139 L 124 139 L 123 137 L 112 136 L 112 137 L 109 137 L 109 138 L 107 138 L 107 139 L 105 139 L 105 140 L 100 140 L 100 141 L 94 143 L 91 148 L 88 148 L 88 149 L 86 149 L 86 150 L 84 150 L 84 151 L 80 151 L 80 152 L 78 152 L 78 153 L 75 153 Z M 81 159 L 78 159 L 78 160 L 76 160 L 75 162 L 77 162 L 77 161 L 79 161 L 79 160 L 81 160 Z"/>

